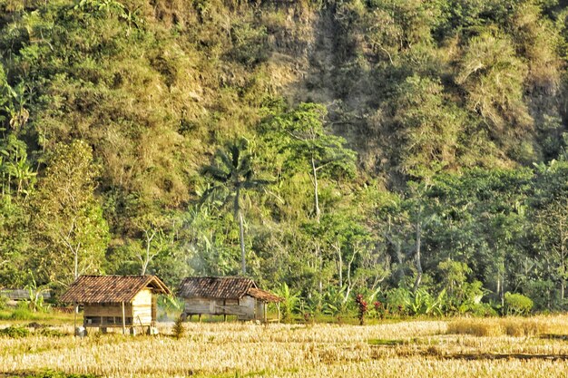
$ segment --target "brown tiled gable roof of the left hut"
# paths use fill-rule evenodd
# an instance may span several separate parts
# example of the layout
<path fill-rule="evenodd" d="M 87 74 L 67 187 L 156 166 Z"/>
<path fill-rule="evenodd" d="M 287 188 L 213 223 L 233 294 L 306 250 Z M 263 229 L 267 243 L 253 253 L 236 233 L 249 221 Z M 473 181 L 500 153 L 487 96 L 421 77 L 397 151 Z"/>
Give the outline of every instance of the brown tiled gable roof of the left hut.
<path fill-rule="evenodd" d="M 146 287 L 170 295 L 170 289 L 157 276 L 80 276 L 60 300 L 67 303 L 131 302 Z"/>

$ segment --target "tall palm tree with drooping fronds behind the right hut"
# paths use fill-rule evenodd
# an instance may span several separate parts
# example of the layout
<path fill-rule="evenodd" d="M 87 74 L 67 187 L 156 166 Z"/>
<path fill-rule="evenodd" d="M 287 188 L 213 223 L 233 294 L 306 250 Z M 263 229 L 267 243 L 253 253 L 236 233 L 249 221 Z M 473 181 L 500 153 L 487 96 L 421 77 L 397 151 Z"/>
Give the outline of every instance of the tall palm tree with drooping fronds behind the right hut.
<path fill-rule="evenodd" d="M 201 198 L 201 202 L 203 202 L 213 196 L 222 196 L 224 203 L 228 203 L 232 199 L 235 219 L 239 219 L 240 262 L 243 275 L 247 273 L 247 263 L 240 198 L 245 190 L 265 190 L 265 187 L 271 183 L 267 179 L 256 179 L 254 177 L 255 172 L 252 170 L 251 155 L 247 152 L 247 149 L 248 141 L 241 138 L 228 143 L 226 150 L 217 150 L 213 163 L 203 167 L 203 174 L 211 177 L 214 184 L 203 193 Z"/>

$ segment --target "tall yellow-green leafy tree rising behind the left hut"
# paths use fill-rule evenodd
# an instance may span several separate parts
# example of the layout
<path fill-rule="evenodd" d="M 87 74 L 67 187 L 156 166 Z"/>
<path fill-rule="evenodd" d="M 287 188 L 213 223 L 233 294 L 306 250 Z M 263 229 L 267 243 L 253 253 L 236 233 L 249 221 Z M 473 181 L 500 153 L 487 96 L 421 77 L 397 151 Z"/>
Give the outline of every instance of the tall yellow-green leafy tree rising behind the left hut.
<path fill-rule="evenodd" d="M 84 141 L 57 145 L 48 160 L 32 208 L 38 268 L 51 282 L 65 286 L 101 266 L 108 226 L 94 196 L 97 175 Z"/>

